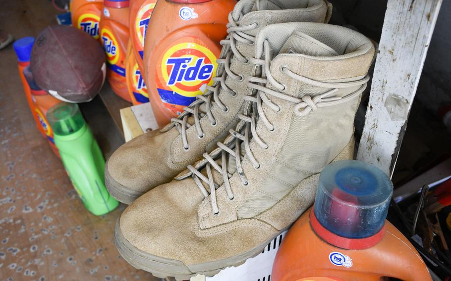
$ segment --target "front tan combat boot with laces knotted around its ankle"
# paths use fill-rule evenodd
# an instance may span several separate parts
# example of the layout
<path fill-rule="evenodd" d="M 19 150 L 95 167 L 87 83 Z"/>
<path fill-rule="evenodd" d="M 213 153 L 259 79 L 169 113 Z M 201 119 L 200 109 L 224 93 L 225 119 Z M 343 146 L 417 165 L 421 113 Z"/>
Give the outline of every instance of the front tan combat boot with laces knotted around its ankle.
<path fill-rule="evenodd" d="M 254 47 L 250 61 L 262 71 L 246 77 L 255 92 L 236 130 L 116 224 L 116 246 L 134 267 L 186 280 L 239 265 L 312 205 L 327 164 L 352 158 L 370 40 L 340 26 L 287 23 L 262 29 Z"/>

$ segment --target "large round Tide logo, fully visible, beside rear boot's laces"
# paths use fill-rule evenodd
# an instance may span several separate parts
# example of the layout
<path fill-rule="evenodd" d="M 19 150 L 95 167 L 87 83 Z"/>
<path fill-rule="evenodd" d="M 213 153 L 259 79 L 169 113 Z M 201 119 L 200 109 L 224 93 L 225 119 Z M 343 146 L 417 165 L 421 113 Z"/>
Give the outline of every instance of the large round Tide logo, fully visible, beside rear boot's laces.
<path fill-rule="evenodd" d="M 182 96 L 203 94 L 213 84 L 216 56 L 208 48 L 186 42 L 170 47 L 163 55 L 161 71 L 166 85 Z"/>

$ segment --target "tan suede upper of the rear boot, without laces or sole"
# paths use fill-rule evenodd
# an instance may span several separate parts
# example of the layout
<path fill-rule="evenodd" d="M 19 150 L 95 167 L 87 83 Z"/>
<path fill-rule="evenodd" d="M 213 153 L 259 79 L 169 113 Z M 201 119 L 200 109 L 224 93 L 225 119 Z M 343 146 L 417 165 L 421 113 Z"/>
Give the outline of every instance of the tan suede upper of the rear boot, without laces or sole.
<path fill-rule="evenodd" d="M 255 0 L 241 0 L 237 3 L 233 13 L 238 15 L 243 13 L 241 10 L 243 6 L 252 6 L 254 2 Z M 258 27 L 248 32 L 255 36 L 259 30 L 271 23 L 289 21 L 325 22 L 329 20 L 331 13 L 330 5 L 323 0 L 299 1 L 299 5 L 306 5 L 300 8 L 292 8 L 296 6 L 296 1 L 293 0 L 278 0 L 276 2 L 280 2 L 279 6 L 283 2 L 289 2 L 291 8 L 244 11 L 244 14 L 239 18 L 240 25 L 251 25 L 257 22 Z M 236 48 L 243 56 L 254 57 L 254 47 L 250 44 L 238 42 Z M 231 58 L 230 69 L 233 73 L 243 76 L 253 75 L 255 71 L 251 64 L 243 64 L 234 56 Z M 114 182 L 134 193 L 144 193 L 153 187 L 168 183 L 187 165 L 201 158 L 203 153 L 214 149 L 218 141 L 223 141 L 226 138 L 229 129 L 236 126 L 238 122 L 236 116 L 242 111 L 243 96 L 251 93 L 250 89 L 247 88 L 246 80 L 236 81 L 227 77 L 226 85 L 236 91 L 237 94 L 231 96 L 221 90 L 219 98 L 229 110 L 224 112 L 217 105 L 212 106 L 211 111 L 218 125 L 212 126 L 209 118 L 203 117 L 200 120 L 200 126 L 205 134 L 203 139 L 198 137 L 195 126 L 186 130 L 189 150 L 184 149 L 182 136 L 176 128 L 169 131 L 163 130 L 160 134 L 150 132 L 139 136 L 119 147 L 108 160 L 108 173 Z M 191 124 L 192 119 L 191 117 Z"/>

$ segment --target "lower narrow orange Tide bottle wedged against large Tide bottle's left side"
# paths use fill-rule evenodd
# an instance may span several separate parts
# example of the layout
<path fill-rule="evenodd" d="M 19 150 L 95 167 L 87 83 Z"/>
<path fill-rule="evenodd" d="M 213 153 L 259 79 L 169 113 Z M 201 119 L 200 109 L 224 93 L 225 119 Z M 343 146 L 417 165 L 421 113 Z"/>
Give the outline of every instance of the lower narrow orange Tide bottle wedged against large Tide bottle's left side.
<path fill-rule="evenodd" d="M 133 105 L 149 102 L 149 94 L 141 73 L 130 40 L 127 47 L 125 76 L 127 78 L 128 93 Z"/>

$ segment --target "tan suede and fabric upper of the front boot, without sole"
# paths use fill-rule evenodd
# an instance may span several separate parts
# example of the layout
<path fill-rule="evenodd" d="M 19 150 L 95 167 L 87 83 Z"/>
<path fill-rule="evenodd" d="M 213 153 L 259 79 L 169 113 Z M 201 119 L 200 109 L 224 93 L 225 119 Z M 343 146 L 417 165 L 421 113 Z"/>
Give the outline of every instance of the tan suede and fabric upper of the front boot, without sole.
<path fill-rule="evenodd" d="M 273 30 L 280 31 L 275 39 L 269 38 Z M 317 57 L 292 53 L 295 44 L 303 44 L 302 41 L 292 41 L 293 45 L 287 46 L 290 48 L 282 45 L 297 39 L 294 31 L 305 33 L 304 38 L 309 38 L 318 48 L 327 44 L 336 53 L 323 54 L 319 49 L 312 50 L 320 53 Z M 282 72 L 283 65 L 295 75 L 308 75 L 309 79 L 321 80 L 326 85 L 358 83 L 343 88 L 338 85 L 339 89 L 333 93 L 338 99 L 343 98 L 342 101 L 318 108 L 312 105 L 305 115 L 295 114 L 297 104 L 291 100 L 268 95 L 281 109 L 277 111 L 266 103 L 262 105 L 261 112 L 265 113 L 274 130 L 264 125 L 260 115 L 255 134 L 268 144 L 268 148 L 258 145 L 255 136 L 249 141 L 260 167 L 255 168 L 248 154 L 242 157 L 242 173 L 248 184 L 243 184 L 242 175 L 231 169 L 229 183 L 233 199 L 229 199 L 219 172 L 214 172 L 213 178 L 218 185 L 215 199 L 219 212 L 216 214 L 212 211 L 213 195 L 204 197 L 194 180 L 196 175 L 150 190 L 124 211 L 119 222 L 122 235 L 136 248 L 185 265 L 196 265 L 263 247 L 265 241 L 288 228 L 312 205 L 319 173 L 328 163 L 352 159 L 353 119 L 360 102 L 359 89 L 367 81 L 362 77 L 366 76 L 374 55 L 371 42 L 355 31 L 314 23 L 268 26 L 260 31 L 256 44 L 261 38 L 269 38 L 275 56 L 271 75 L 286 85 L 285 95 L 316 97 L 330 89 L 297 81 Z M 258 46 L 255 47 L 258 54 Z M 288 49 L 290 53 L 279 53 Z M 334 69 L 335 65 L 338 65 L 337 69 Z M 329 66 L 332 69 L 328 69 Z M 271 83 L 266 87 L 276 90 Z M 348 96 L 352 98 L 346 99 Z M 206 175 L 205 169 L 202 174 Z M 206 186 L 204 182 L 202 185 Z"/>

